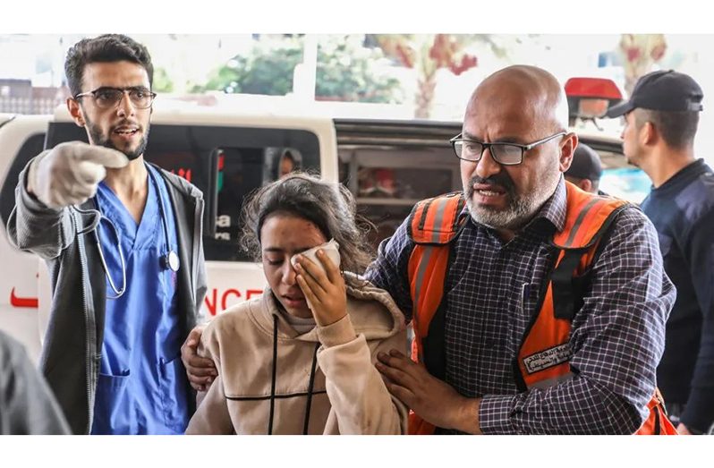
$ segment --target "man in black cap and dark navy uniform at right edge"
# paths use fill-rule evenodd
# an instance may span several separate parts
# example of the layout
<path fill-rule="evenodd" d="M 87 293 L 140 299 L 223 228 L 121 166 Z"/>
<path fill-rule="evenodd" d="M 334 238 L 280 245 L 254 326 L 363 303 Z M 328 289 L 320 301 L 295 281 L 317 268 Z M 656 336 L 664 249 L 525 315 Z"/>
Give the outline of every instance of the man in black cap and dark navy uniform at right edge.
<path fill-rule="evenodd" d="M 625 157 L 652 181 L 642 210 L 677 289 L 657 382 L 682 434 L 714 423 L 714 173 L 693 149 L 702 98 L 692 77 L 651 72 L 607 114 L 625 115 Z"/>

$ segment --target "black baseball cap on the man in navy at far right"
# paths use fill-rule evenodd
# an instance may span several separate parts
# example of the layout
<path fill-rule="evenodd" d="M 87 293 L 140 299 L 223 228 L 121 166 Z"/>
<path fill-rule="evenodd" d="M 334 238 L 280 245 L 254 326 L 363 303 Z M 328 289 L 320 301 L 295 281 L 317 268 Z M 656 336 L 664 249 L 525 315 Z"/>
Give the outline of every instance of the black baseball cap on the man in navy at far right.
<path fill-rule="evenodd" d="M 637 81 L 629 101 L 610 107 L 605 115 L 619 117 L 637 107 L 666 112 L 698 112 L 703 109 L 702 98 L 704 93 L 691 76 L 674 70 L 651 72 Z"/>

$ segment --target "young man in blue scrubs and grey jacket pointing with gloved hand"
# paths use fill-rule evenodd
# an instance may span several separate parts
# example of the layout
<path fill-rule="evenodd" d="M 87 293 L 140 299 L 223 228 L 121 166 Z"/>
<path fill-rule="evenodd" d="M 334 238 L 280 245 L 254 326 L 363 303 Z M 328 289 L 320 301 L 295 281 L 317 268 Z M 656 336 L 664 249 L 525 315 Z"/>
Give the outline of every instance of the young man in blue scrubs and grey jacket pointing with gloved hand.
<path fill-rule="evenodd" d="M 65 72 L 90 144 L 35 157 L 9 223 L 53 281 L 41 367 L 74 433 L 183 433 L 194 399 L 180 348 L 206 292 L 202 195 L 144 161 L 156 96 L 146 47 L 83 39 Z"/>

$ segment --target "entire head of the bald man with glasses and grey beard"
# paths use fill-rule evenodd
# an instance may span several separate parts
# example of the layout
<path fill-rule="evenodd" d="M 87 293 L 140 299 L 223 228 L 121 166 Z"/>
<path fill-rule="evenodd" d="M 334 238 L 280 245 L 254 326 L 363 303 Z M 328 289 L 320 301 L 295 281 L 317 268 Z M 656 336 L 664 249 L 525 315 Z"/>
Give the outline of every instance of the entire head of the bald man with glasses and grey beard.
<path fill-rule="evenodd" d="M 535 216 L 556 191 L 577 146 L 567 124 L 565 92 L 545 70 L 511 66 L 480 83 L 466 108 L 462 136 L 489 145 L 472 144 L 481 149 L 480 159 L 460 163 L 463 191 L 477 223 L 506 235 Z M 517 147 L 520 161 L 499 159 Z"/>

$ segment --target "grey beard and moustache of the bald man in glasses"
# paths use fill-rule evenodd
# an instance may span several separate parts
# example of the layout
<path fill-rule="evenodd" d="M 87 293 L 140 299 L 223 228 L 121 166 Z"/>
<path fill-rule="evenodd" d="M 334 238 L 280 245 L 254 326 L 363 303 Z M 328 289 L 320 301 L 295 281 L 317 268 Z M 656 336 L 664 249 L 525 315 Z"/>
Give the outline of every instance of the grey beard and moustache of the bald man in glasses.
<path fill-rule="evenodd" d="M 548 167 L 538 181 L 535 189 L 528 194 L 521 195 L 515 187 L 515 183 L 506 171 L 483 178 L 474 175 L 469 182 L 463 186 L 463 193 L 466 195 L 466 207 L 474 221 L 480 225 L 485 225 L 492 229 L 507 229 L 516 231 L 526 225 L 538 212 L 540 207 L 548 200 L 556 190 L 560 180 L 560 171 L 556 164 Z M 473 204 L 473 185 L 476 183 L 497 185 L 506 191 L 506 208 L 493 208 L 489 206 L 475 206 Z"/>

